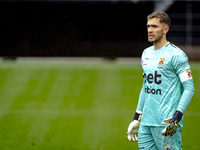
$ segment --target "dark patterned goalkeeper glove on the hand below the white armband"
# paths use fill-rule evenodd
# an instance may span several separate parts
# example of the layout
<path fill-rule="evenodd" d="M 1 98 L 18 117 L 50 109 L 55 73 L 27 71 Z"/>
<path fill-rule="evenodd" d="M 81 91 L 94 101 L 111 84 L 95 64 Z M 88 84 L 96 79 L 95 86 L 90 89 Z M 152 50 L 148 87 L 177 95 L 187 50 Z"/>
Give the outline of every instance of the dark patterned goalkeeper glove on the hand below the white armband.
<path fill-rule="evenodd" d="M 177 110 L 173 117 L 163 120 L 163 125 L 167 123 L 169 123 L 169 125 L 164 130 L 162 130 L 162 134 L 164 136 L 172 137 L 176 133 L 178 123 L 181 120 L 182 116 L 183 113 Z"/>

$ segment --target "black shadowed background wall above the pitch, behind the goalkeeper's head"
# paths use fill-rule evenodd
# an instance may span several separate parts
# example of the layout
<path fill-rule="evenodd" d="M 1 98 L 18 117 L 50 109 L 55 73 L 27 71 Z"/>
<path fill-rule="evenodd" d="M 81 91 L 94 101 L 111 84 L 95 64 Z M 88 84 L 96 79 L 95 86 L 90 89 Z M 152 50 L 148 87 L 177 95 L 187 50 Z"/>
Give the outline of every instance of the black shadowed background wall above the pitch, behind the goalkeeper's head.
<path fill-rule="evenodd" d="M 175 25 L 168 33 L 174 44 L 186 44 L 188 3 L 198 18 L 200 2 L 175 2 L 166 11 Z M 146 16 L 153 8 L 151 1 L 0 2 L 0 55 L 137 57 L 151 45 Z M 190 33 L 191 44 L 199 45 L 199 32 Z"/>

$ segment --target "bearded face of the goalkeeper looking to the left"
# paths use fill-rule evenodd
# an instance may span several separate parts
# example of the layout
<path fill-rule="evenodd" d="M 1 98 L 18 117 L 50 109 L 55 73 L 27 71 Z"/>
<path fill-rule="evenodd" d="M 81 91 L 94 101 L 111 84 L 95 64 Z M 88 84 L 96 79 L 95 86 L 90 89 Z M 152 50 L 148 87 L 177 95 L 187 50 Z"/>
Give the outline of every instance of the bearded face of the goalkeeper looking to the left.
<path fill-rule="evenodd" d="M 153 18 L 147 21 L 148 41 L 156 43 L 163 38 L 165 34 L 165 24 L 160 23 L 160 19 Z"/>

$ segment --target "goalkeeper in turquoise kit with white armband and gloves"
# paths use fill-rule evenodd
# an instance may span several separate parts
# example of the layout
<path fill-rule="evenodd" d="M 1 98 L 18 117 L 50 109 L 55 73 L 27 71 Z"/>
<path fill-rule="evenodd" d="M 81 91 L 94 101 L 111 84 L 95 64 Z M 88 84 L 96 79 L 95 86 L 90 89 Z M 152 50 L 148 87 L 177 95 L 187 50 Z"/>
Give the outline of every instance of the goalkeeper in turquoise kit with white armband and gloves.
<path fill-rule="evenodd" d="M 153 46 L 141 57 L 143 86 L 127 132 L 129 141 L 138 141 L 142 150 L 182 149 L 183 113 L 194 84 L 186 54 L 166 39 L 170 23 L 164 12 L 147 16 L 148 41 Z"/>

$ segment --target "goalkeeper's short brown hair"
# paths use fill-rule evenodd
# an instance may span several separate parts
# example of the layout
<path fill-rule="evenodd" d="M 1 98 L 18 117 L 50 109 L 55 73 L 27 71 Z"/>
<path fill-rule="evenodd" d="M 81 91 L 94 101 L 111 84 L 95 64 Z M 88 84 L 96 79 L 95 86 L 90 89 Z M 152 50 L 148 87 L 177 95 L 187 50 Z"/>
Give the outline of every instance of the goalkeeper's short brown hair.
<path fill-rule="evenodd" d="M 165 12 L 156 11 L 147 16 L 147 20 L 153 19 L 153 18 L 160 19 L 160 23 L 166 23 L 168 26 L 170 26 L 171 24 L 171 20 Z"/>

